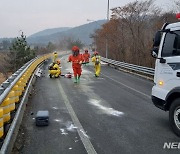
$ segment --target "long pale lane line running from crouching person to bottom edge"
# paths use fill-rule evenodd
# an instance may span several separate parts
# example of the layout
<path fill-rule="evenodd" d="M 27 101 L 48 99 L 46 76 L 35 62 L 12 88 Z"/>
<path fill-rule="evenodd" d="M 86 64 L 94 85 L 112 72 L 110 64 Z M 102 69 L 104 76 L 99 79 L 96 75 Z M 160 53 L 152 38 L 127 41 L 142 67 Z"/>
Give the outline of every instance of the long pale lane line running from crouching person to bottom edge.
<path fill-rule="evenodd" d="M 64 90 L 63 90 L 63 88 L 62 88 L 62 85 L 61 85 L 60 81 L 56 80 L 56 82 L 57 82 L 57 85 L 58 85 L 58 88 L 59 88 L 59 92 L 61 93 L 62 98 L 64 100 L 64 104 L 66 105 L 67 110 L 69 111 L 71 119 L 72 119 L 73 123 L 75 124 L 75 126 L 77 126 L 78 134 L 79 134 L 79 136 L 80 136 L 80 138 L 82 140 L 82 143 L 84 144 L 84 147 L 85 147 L 87 153 L 88 154 L 97 154 L 97 152 L 94 149 L 91 141 L 89 140 L 89 138 L 84 133 L 85 132 L 84 128 L 82 127 L 79 119 L 77 118 L 77 116 L 76 116 L 76 114 L 75 114 L 75 112 L 74 112 L 74 110 L 73 110 L 73 108 L 72 108 L 72 106 L 71 106 L 71 104 L 70 104 Z"/>

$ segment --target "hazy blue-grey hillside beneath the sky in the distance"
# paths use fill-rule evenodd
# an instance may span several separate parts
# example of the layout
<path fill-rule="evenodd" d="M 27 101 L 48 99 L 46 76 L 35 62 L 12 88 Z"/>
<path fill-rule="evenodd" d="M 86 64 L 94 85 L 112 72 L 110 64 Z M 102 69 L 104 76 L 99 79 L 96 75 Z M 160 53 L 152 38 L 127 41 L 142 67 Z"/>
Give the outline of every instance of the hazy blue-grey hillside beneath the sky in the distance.
<path fill-rule="evenodd" d="M 37 37 L 31 36 L 27 38 L 27 41 L 30 44 L 47 44 L 48 42 L 58 43 L 64 37 L 66 38 L 71 37 L 73 39 L 81 40 L 84 44 L 91 44 L 92 39 L 89 38 L 90 34 L 94 33 L 96 29 L 101 28 L 101 25 L 103 25 L 105 22 L 106 20 L 98 20 L 95 22 L 84 24 L 78 27 L 71 28 L 66 31 L 57 32 L 50 35 L 37 36 Z M 51 30 L 53 31 L 53 29 Z"/>

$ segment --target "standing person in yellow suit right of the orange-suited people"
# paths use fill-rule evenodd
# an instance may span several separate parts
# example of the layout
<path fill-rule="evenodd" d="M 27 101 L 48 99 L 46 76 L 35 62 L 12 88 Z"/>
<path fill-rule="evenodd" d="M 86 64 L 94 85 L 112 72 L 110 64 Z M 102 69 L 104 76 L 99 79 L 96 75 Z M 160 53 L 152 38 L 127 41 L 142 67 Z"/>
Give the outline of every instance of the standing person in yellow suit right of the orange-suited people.
<path fill-rule="evenodd" d="M 99 77 L 101 72 L 101 57 L 99 56 L 99 53 L 97 51 L 94 52 L 92 62 L 94 63 L 95 77 Z"/>

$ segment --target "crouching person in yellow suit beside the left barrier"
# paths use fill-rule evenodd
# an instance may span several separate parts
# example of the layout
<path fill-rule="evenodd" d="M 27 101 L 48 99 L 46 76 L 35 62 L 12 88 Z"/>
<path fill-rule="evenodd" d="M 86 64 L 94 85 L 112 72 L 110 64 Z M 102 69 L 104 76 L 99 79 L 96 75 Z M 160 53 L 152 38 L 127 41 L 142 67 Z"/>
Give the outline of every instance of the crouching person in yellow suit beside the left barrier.
<path fill-rule="evenodd" d="M 53 76 L 55 78 L 58 78 L 61 75 L 61 69 L 60 69 L 60 60 L 57 60 L 56 63 L 52 63 L 49 65 L 49 77 L 52 78 Z"/>

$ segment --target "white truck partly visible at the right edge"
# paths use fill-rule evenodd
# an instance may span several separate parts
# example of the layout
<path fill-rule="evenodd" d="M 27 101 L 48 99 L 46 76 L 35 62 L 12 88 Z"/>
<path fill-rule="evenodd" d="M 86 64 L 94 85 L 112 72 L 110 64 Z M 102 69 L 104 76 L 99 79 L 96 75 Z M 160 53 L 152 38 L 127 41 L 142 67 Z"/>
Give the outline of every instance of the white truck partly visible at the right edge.
<path fill-rule="evenodd" d="M 152 56 L 156 58 L 152 101 L 169 111 L 170 125 L 180 136 L 180 22 L 166 23 L 156 33 Z"/>

